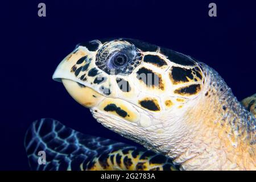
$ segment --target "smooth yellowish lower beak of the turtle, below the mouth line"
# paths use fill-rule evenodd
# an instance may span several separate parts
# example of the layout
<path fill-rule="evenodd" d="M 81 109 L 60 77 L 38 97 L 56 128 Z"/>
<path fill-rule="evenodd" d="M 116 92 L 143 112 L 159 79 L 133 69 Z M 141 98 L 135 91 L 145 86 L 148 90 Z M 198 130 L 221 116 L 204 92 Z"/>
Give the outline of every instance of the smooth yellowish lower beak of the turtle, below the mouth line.
<path fill-rule="evenodd" d="M 61 82 L 63 82 L 65 89 L 67 89 L 71 97 L 84 107 L 97 106 L 105 98 L 102 94 L 88 86 L 79 84 L 79 82 L 68 79 L 61 79 Z"/>

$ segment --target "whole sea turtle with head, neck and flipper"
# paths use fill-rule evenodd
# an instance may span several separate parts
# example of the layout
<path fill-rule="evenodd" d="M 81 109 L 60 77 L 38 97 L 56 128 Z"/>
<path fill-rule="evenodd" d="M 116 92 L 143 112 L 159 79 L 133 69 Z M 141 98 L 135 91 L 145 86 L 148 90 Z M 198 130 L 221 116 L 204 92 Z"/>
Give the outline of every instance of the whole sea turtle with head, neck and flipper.
<path fill-rule="evenodd" d="M 214 69 L 190 56 L 134 39 L 93 40 L 76 46 L 53 80 L 148 151 L 42 119 L 25 139 L 33 169 L 256 169 L 255 95 L 242 101 L 247 111 Z M 45 166 L 39 150 L 49 155 Z"/>

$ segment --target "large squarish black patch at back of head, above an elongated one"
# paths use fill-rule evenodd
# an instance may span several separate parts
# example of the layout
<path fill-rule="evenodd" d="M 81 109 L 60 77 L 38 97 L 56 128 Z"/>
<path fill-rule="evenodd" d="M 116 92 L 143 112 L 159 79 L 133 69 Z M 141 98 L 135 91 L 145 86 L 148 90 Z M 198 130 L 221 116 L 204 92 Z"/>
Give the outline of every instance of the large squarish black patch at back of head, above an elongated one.
<path fill-rule="evenodd" d="M 188 82 L 188 78 L 193 79 L 191 69 L 180 67 L 172 67 L 170 77 L 174 84 L 178 84 L 179 82 Z"/>

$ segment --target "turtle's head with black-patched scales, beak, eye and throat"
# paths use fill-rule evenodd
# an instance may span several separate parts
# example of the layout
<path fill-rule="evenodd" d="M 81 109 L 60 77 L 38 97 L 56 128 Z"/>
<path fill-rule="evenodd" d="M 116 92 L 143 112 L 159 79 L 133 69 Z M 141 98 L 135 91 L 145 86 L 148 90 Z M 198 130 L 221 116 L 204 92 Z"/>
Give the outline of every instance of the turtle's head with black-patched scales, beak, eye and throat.
<path fill-rule="evenodd" d="M 189 56 L 139 40 L 111 39 L 76 46 L 53 80 L 63 82 L 98 122 L 150 146 L 148 141 L 170 138 L 184 126 L 204 75 Z"/>

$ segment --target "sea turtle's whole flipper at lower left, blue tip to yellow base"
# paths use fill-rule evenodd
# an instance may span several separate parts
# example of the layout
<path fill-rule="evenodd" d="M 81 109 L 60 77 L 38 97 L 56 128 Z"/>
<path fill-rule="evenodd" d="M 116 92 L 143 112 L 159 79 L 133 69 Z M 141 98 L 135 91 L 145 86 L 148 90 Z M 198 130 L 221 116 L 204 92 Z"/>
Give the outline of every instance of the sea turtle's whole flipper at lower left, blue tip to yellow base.
<path fill-rule="evenodd" d="M 171 159 L 145 148 L 92 137 L 55 119 L 32 123 L 24 141 L 32 170 L 177 170 Z M 39 151 L 46 164 L 39 164 Z"/>

